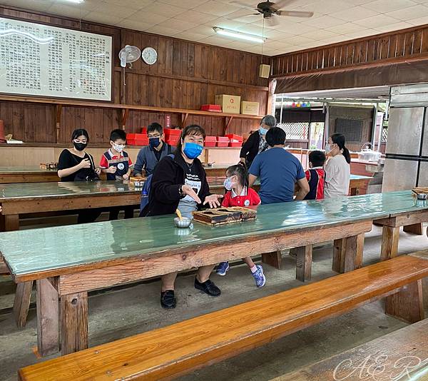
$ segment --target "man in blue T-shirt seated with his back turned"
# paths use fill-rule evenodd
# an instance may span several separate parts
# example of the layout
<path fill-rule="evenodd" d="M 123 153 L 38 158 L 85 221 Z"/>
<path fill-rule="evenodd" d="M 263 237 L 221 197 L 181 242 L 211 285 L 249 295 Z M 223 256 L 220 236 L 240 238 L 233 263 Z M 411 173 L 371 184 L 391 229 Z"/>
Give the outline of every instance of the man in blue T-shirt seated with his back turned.
<path fill-rule="evenodd" d="M 295 200 L 303 200 L 309 192 L 309 184 L 300 161 L 284 149 L 285 132 L 279 127 L 270 128 L 266 142 L 270 149 L 255 156 L 251 164 L 250 187 L 260 178 L 262 204 L 285 203 L 293 200 L 297 183 L 300 190 Z"/>

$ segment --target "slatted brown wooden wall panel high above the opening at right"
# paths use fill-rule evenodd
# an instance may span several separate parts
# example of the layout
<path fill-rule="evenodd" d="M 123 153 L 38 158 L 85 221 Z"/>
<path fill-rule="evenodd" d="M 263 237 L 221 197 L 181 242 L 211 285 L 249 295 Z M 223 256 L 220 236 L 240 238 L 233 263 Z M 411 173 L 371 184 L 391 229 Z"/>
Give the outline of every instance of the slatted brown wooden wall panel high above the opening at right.
<path fill-rule="evenodd" d="M 307 65 L 302 60 L 305 54 L 308 56 Z M 272 76 L 295 76 L 427 56 L 428 25 L 423 25 L 272 57 Z M 284 65 L 284 62 L 292 64 Z"/>

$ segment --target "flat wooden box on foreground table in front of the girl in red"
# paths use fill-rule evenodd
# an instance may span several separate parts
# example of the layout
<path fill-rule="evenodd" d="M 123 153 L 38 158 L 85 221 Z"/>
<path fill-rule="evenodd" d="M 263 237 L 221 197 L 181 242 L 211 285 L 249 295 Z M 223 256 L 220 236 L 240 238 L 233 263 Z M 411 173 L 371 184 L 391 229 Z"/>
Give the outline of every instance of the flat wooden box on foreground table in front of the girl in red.
<path fill-rule="evenodd" d="M 207 209 L 193 212 L 193 219 L 205 225 L 223 225 L 243 220 L 254 220 L 257 211 L 255 209 L 241 208 L 239 206 L 230 208 Z"/>

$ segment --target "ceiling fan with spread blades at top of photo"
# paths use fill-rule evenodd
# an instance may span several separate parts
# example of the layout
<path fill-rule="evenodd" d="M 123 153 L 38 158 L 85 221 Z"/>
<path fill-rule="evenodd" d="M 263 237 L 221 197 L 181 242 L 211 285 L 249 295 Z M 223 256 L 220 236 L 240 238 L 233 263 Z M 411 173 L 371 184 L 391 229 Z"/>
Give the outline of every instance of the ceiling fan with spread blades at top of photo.
<path fill-rule="evenodd" d="M 295 0 L 282 0 L 277 3 L 272 3 L 271 1 L 263 1 L 262 3 L 257 4 L 257 8 L 248 6 L 248 4 L 241 3 L 240 1 L 231 1 L 230 4 L 240 6 L 242 8 L 248 9 L 250 11 L 258 11 L 257 14 L 248 14 L 246 16 L 238 17 L 237 19 L 242 19 L 242 17 L 252 17 L 263 15 L 263 19 L 267 21 L 267 24 L 270 26 L 275 26 L 278 23 L 277 16 L 289 16 L 289 17 L 304 17 L 310 18 L 314 15 L 313 12 L 308 11 L 285 11 L 281 9 L 283 6 L 291 4 Z"/>

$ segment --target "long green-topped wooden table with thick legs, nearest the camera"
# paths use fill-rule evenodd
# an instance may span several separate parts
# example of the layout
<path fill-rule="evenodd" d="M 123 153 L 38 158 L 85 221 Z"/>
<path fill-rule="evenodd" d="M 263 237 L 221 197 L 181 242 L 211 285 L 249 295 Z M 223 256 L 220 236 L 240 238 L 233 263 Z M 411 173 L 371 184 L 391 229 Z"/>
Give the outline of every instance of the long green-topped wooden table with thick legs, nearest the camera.
<path fill-rule="evenodd" d="M 39 352 L 58 351 L 61 332 L 66 354 L 88 347 L 88 291 L 293 247 L 305 248 L 297 258 L 304 273 L 312 263 L 308 248 L 328 240 L 342 242 L 334 250 L 337 270 L 360 268 L 372 220 L 407 199 L 409 192 L 398 192 L 260 205 L 257 220 L 195 223 L 193 230 L 175 228 L 172 215 L 18 230 L 0 233 L 0 252 L 16 283 L 37 282 Z"/>

